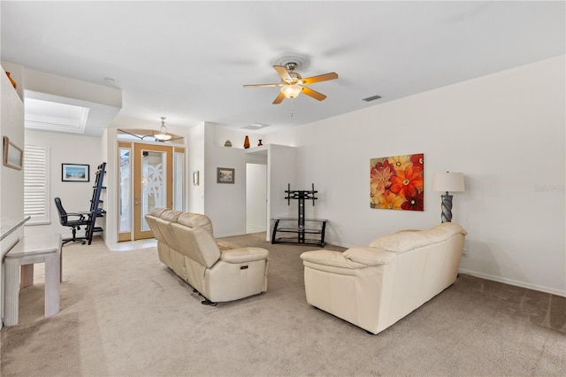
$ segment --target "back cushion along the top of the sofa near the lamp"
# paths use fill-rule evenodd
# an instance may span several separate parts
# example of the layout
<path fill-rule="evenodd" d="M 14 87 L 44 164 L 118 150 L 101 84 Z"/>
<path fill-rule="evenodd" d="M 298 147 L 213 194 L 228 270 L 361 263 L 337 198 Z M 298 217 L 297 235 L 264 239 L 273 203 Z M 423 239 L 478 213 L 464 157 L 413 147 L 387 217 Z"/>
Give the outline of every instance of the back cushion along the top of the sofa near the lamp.
<path fill-rule="evenodd" d="M 415 250 L 432 243 L 447 240 L 454 235 L 465 235 L 466 232 L 459 224 L 445 222 L 427 230 L 401 231 L 393 235 L 376 238 L 370 243 L 371 247 L 393 252 Z"/>

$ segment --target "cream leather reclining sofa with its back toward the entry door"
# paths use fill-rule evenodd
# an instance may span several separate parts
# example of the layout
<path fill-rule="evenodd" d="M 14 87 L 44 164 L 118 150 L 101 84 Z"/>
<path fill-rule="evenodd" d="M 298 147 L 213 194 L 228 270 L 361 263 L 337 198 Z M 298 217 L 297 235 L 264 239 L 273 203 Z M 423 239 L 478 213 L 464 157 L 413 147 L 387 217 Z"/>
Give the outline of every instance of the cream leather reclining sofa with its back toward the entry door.
<path fill-rule="evenodd" d="M 155 208 L 145 219 L 156 236 L 159 259 L 207 299 L 203 304 L 267 290 L 268 250 L 218 244 L 210 219 L 200 213 Z"/>

